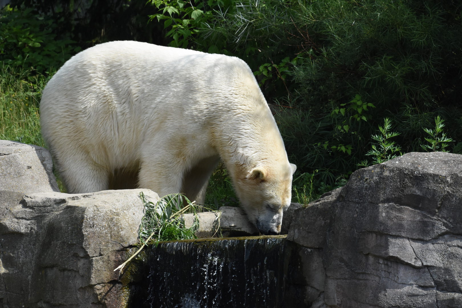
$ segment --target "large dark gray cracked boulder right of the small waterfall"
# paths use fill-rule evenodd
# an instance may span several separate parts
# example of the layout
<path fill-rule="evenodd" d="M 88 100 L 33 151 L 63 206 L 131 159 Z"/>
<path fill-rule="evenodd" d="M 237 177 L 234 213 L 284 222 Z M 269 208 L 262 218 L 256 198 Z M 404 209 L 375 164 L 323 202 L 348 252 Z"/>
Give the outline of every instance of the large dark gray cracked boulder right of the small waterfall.
<path fill-rule="evenodd" d="M 313 308 L 462 307 L 461 231 L 461 155 L 408 153 L 359 169 L 295 211 L 288 240 L 302 273 L 292 270 L 287 298 Z"/>

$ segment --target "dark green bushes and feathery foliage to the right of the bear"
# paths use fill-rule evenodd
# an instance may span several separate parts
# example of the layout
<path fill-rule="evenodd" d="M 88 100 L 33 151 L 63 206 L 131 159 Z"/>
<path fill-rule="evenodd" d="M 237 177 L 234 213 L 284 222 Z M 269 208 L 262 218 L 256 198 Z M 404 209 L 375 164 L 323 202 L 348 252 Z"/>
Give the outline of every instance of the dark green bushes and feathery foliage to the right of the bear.
<path fill-rule="evenodd" d="M 294 186 L 315 196 L 368 158 L 383 118 L 403 152 L 423 150 L 438 115 L 447 138 L 462 141 L 461 8 L 438 0 L 217 3 L 189 28 L 188 47 L 215 46 L 249 63 L 268 103 L 280 107 L 286 150 L 305 174 Z"/>

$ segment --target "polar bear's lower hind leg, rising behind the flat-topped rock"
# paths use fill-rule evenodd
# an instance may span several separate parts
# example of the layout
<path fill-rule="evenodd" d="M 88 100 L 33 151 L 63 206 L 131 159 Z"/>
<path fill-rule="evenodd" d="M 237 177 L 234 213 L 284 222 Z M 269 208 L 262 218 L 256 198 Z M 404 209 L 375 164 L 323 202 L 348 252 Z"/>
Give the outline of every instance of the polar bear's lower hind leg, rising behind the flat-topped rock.
<path fill-rule="evenodd" d="M 86 154 L 56 159 L 56 167 L 67 193 L 94 193 L 109 189 L 109 172 Z"/>

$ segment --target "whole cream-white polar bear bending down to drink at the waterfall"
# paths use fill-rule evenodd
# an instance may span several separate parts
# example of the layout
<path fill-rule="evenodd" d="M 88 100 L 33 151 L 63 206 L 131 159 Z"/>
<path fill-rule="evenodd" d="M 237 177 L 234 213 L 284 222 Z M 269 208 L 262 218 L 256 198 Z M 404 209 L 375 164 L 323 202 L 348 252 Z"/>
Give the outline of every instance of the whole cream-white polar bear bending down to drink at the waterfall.
<path fill-rule="evenodd" d="M 103 43 L 56 72 L 40 118 L 69 193 L 140 187 L 202 203 L 221 158 L 249 221 L 280 232 L 296 167 L 243 60 Z"/>

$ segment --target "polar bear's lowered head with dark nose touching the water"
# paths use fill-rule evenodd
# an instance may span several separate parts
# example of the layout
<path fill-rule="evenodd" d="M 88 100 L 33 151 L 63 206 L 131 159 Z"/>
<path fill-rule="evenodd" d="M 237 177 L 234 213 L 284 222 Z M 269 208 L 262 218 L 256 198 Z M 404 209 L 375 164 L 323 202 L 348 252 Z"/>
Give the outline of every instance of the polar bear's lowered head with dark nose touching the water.
<path fill-rule="evenodd" d="M 291 204 L 293 163 L 261 163 L 236 178 L 236 192 L 249 221 L 262 234 L 279 234 L 283 212 Z"/>

